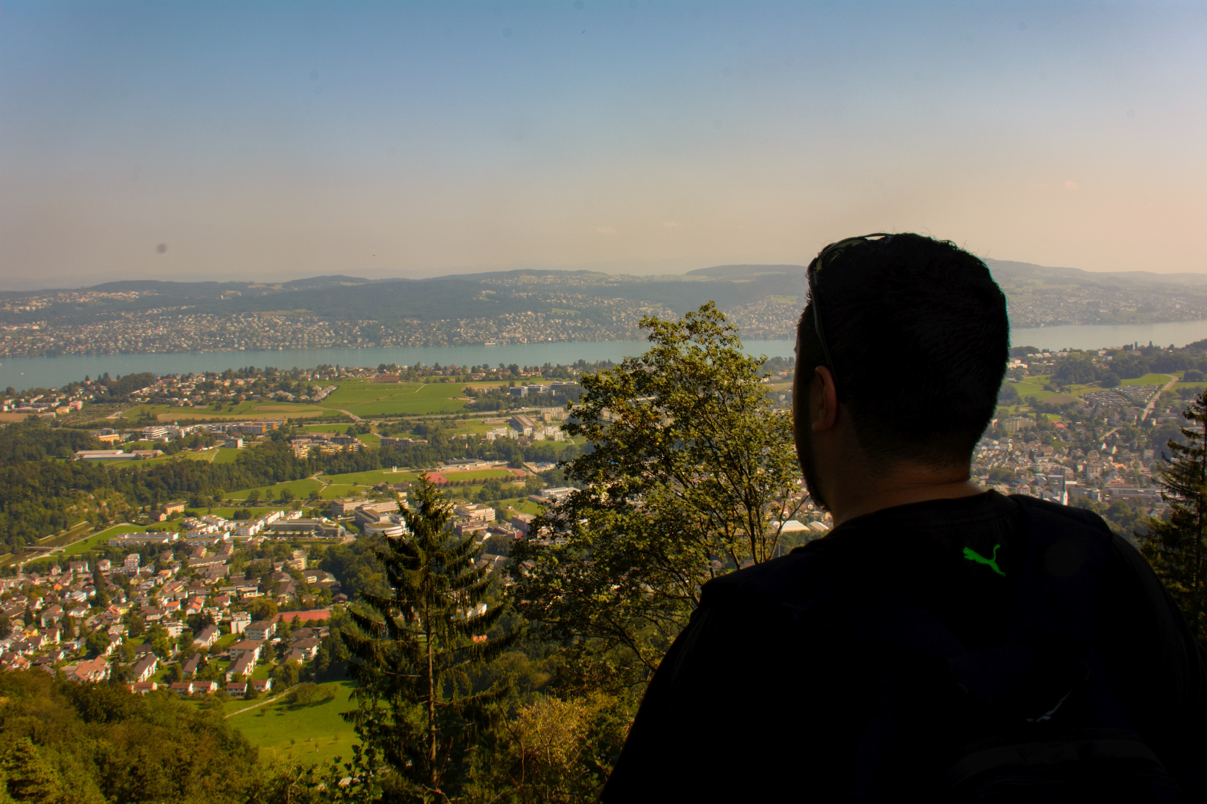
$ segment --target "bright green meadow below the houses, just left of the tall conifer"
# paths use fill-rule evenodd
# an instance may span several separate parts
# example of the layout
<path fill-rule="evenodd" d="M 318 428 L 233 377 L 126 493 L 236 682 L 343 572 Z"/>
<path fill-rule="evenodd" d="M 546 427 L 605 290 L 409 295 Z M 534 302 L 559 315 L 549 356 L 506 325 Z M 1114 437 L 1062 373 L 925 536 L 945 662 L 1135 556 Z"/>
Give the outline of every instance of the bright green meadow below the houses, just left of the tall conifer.
<path fill-rule="evenodd" d="M 334 687 L 336 697 L 305 706 L 288 706 L 281 698 L 250 711 L 231 715 L 228 722 L 243 732 L 252 745 L 260 746 L 260 761 L 264 764 L 274 759 L 327 762 L 338 756 L 351 758 L 356 733 L 350 723 L 344 722 L 339 712 L 355 706 L 349 700 L 352 682 L 339 681 L 319 686 Z M 234 709 L 255 703 L 239 702 L 240 706 Z"/>

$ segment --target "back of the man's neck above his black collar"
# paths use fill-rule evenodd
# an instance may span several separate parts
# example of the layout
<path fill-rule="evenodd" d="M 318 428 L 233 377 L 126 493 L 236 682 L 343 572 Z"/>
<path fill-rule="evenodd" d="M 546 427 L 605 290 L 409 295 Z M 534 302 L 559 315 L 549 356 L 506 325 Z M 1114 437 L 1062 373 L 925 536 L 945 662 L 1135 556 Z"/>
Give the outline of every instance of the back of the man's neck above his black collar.
<path fill-rule="evenodd" d="M 928 466 L 899 466 L 880 477 L 867 474 L 847 475 L 851 482 L 840 483 L 833 497 L 830 515 L 834 526 L 856 517 L 898 505 L 927 500 L 958 499 L 985 492 L 968 479 L 968 468 L 935 470 Z"/>

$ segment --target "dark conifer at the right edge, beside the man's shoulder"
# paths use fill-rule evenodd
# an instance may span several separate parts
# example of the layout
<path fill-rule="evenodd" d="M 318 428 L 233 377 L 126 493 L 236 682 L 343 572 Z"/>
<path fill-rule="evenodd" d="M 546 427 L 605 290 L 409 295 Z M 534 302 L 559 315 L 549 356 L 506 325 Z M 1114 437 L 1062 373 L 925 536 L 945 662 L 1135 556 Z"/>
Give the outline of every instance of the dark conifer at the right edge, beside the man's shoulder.
<path fill-rule="evenodd" d="M 1172 459 L 1161 471 L 1165 521 L 1151 520 L 1144 556 L 1165 581 L 1199 639 L 1207 638 L 1207 389 L 1183 413 L 1186 444 L 1170 441 Z"/>

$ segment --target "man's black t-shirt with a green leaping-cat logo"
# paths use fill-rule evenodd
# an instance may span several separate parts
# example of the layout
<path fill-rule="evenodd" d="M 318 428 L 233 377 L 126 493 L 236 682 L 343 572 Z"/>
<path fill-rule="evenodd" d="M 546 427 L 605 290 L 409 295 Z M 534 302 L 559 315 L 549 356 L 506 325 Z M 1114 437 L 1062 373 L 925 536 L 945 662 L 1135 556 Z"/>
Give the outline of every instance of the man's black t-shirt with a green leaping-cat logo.
<path fill-rule="evenodd" d="M 1059 512 L 1108 538 L 1100 517 Z M 707 583 L 649 683 L 604 800 L 849 800 L 877 677 L 814 604 L 891 592 L 964 649 L 996 647 L 1014 618 L 1026 541 L 1024 504 L 987 492 L 876 511 Z M 1201 649 L 1144 558 L 1116 535 L 1107 552 L 1095 650 L 1135 730 L 1199 800 Z"/>

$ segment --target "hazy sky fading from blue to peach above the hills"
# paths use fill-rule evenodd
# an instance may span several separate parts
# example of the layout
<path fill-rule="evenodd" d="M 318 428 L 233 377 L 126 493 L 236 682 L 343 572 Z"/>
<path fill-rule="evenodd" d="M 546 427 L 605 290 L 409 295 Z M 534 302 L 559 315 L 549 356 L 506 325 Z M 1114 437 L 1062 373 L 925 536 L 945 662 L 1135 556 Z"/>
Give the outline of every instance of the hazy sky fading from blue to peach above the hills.
<path fill-rule="evenodd" d="M 1203 2 L 0 0 L 0 286 L 1207 271 L 1205 101 Z"/>

